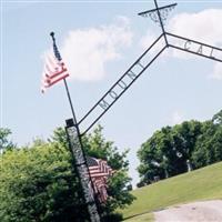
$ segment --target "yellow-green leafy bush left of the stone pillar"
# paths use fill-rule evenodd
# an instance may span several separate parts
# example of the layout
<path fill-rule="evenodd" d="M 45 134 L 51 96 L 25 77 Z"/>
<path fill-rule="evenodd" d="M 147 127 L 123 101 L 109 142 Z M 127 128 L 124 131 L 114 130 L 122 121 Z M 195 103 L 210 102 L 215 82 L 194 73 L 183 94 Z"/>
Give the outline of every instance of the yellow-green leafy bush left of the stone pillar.
<path fill-rule="evenodd" d="M 81 204 L 79 185 L 64 148 L 13 150 L 1 157 L 1 163 L 0 221 L 79 220 L 73 212 L 75 203 Z"/>

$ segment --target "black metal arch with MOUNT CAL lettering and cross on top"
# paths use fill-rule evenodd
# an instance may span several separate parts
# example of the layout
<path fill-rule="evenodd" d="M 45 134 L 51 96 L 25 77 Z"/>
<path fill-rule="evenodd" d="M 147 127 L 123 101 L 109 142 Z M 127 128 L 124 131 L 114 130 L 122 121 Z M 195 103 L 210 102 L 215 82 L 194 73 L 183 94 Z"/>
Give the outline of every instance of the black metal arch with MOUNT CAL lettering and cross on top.
<path fill-rule="evenodd" d="M 160 23 L 162 34 L 144 51 L 144 53 L 141 57 L 139 57 L 139 59 L 127 70 L 127 72 L 124 72 L 122 74 L 122 77 L 119 78 L 119 80 L 104 93 L 104 95 L 78 122 L 78 125 L 82 124 L 89 117 L 92 115 L 92 113 L 95 112 L 95 110 L 98 108 L 100 109 L 100 113 L 95 114 L 94 120 L 91 121 L 89 127 L 81 133 L 81 135 L 85 134 L 103 117 L 103 114 L 117 102 L 117 100 L 131 87 L 131 84 L 148 69 L 148 67 L 150 67 L 152 64 L 152 62 L 167 48 L 170 47 L 170 48 L 173 48 L 173 49 L 176 49 L 176 50 L 180 50 L 180 51 L 189 52 L 189 53 L 196 54 L 196 56 L 200 56 L 200 57 L 204 57 L 204 58 L 218 61 L 218 62 L 222 62 L 222 49 L 206 44 L 206 43 L 202 43 L 202 42 L 196 41 L 196 40 L 192 40 L 192 39 L 189 39 L 189 38 L 180 37 L 180 36 L 173 34 L 173 33 L 169 33 L 164 30 L 163 20 L 165 18 L 163 18 L 162 12 L 164 10 L 165 11 L 171 10 L 172 8 L 174 8 L 176 6 L 176 3 L 164 6 L 164 7 L 159 7 L 157 0 L 154 0 L 154 4 L 155 4 L 155 9 L 140 12 L 139 16 L 148 16 L 150 13 L 155 13 L 155 21 L 158 23 Z M 164 42 L 165 42 L 165 44 L 162 47 L 162 49 L 159 50 L 159 52 L 151 59 L 151 61 L 149 61 L 145 64 L 142 63 L 142 59 L 148 54 L 148 52 L 150 52 L 150 50 L 154 46 L 157 46 L 157 43 L 162 38 L 164 39 Z M 176 40 L 185 41 L 185 42 L 183 42 L 184 46 L 181 47 L 181 46 L 176 46 L 175 43 L 169 43 L 170 42 L 169 38 L 174 38 Z M 191 44 L 198 46 L 199 47 L 198 50 L 191 49 Z M 203 53 L 203 48 L 208 49 L 208 51 L 209 51 L 208 54 Z M 141 68 L 141 70 L 138 73 L 135 73 L 133 71 L 133 68 L 135 68 L 135 67 Z M 131 81 L 128 84 L 124 82 L 125 77 L 131 78 Z M 115 91 L 118 85 L 121 88 L 121 92 L 119 92 L 119 93 Z M 108 99 L 111 99 L 111 101 L 107 101 Z"/>

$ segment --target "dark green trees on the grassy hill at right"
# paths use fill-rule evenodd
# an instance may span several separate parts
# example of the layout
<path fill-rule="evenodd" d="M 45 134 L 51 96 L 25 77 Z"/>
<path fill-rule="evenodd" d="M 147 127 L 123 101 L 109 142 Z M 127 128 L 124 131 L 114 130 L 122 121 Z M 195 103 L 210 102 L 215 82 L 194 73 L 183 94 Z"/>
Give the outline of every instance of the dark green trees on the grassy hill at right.
<path fill-rule="evenodd" d="M 204 122 L 158 130 L 141 145 L 138 158 L 138 186 L 222 161 L 222 110 Z"/>

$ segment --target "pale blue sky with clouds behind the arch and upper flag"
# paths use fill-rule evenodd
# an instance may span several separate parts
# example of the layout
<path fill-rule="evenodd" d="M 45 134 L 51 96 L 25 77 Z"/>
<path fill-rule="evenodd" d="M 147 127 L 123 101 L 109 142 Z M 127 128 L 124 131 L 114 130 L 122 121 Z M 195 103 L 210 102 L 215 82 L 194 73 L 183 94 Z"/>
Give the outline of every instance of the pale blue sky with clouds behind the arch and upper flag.
<path fill-rule="evenodd" d="M 222 48 L 222 1 L 178 3 L 165 29 Z M 149 18 L 137 16 L 153 7 L 152 1 L 2 1 L 1 127 L 12 130 L 13 141 L 48 138 L 71 118 L 62 84 L 40 93 L 51 31 L 71 73 L 80 119 L 160 34 Z M 141 143 L 164 125 L 210 119 L 222 107 L 221 84 L 221 63 L 169 50 L 100 120 L 107 139 L 120 151 L 130 148 L 133 184 Z"/>

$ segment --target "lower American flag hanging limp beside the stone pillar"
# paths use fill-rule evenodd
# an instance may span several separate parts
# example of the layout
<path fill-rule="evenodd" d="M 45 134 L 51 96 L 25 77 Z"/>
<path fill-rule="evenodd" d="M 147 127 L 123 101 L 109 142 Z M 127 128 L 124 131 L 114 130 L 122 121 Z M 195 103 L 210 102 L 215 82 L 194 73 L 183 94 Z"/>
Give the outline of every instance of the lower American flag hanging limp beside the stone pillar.
<path fill-rule="evenodd" d="M 104 160 L 87 157 L 87 162 L 95 194 L 100 202 L 105 202 L 108 199 L 107 182 L 113 171 Z"/>

